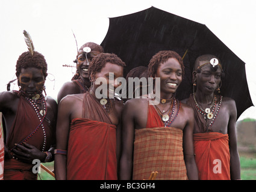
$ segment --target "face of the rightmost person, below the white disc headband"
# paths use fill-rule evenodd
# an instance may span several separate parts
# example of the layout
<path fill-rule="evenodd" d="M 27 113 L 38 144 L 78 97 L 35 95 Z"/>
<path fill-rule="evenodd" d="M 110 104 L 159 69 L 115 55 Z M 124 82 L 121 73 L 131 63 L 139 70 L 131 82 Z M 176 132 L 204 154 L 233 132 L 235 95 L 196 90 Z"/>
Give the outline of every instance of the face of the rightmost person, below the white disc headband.
<path fill-rule="evenodd" d="M 199 66 L 207 61 L 200 61 Z M 222 70 L 219 66 L 215 66 L 217 70 L 213 70 L 211 64 L 207 64 L 201 68 L 200 73 L 196 73 L 196 91 L 204 92 L 205 94 L 213 94 L 221 80 Z"/>

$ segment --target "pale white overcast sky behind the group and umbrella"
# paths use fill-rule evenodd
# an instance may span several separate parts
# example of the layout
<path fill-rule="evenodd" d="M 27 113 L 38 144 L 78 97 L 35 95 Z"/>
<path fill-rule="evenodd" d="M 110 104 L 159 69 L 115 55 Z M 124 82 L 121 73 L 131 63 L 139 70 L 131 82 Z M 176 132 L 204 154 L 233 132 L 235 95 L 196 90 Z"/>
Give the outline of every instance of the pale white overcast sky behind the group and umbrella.
<path fill-rule="evenodd" d="M 17 58 L 27 51 L 23 30 L 30 33 L 36 51 L 48 63 L 46 94 L 57 98 L 64 82 L 71 80 L 78 48 L 98 44 L 108 31 L 109 18 L 145 10 L 151 6 L 206 25 L 246 63 L 246 78 L 256 106 L 256 7 L 255 0 L 0 0 L 0 92 L 16 79 Z M 17 85 L 11 86 L 17 89 Z M 237 88 L 239 89 L 239 87 Z M 256 118 L 250 107 L 239 118 Z"/>

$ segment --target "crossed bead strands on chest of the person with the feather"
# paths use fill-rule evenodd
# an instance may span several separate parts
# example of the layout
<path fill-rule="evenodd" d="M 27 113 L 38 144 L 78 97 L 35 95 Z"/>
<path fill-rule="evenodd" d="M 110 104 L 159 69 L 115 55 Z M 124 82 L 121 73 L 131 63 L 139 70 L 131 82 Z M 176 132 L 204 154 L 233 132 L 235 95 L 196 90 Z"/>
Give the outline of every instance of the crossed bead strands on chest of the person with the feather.
<path fill-rule="evenodd" d="M 43 148 L 42 148 L 42 152 L 43 152 L 45 151 L 45 148 L 46 148 L 46 133 L 45 133 L 45 127 L 43 127 L 43 120 L 45 119 L 47 114 L 47 105 L 46 105 L 45 97 L 43 96 L 42 92 L 40 92 L 40 94 L 36 94 L 32 98 L 27 97 L 25 95 L 25 99 L 28 101 L 28 103 L 31 104 L 31 106 L 33 106 L 33 109 L 35 110 L 37 117 L 39 118 L 40 124 L 35 128 L 35 130 L 29 136 L 23 139 L 19 144 L 26 142 L 28 139 L 30 139 L 30 137 L 32 137 L 36 133 L 36 131 L 39 130 L 39 128 L 41 127 L 43 131 Z M 39 104 L 43 104 L 42 110 L 40 110 Z"/>

